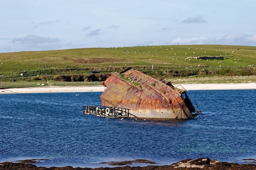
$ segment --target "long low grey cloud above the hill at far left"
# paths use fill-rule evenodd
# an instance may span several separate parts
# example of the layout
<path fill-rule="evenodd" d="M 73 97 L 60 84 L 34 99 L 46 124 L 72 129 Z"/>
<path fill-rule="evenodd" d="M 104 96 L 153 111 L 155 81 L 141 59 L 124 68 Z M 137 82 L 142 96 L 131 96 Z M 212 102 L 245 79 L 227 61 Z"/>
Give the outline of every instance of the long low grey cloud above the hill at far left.
<path fill-rule="evenodd" d="M 52 44 L 62 40 L 59 38 L 40 37 L 38 35 L 27 35 L 25 37 L 14 38 L 11 44 Z"/>

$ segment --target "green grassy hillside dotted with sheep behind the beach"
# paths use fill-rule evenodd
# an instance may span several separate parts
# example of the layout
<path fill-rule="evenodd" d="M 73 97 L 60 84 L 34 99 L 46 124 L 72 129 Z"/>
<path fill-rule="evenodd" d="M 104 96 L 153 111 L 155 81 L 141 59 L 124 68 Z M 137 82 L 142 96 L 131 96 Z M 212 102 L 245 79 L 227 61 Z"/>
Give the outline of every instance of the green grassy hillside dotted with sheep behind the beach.
<path fill-rule="evenodd" d="M 196 58 L 206 56 L 223 59 Z M 87 85 L 102 82 L 111 72 L 120 72 L 128 66 L 177 83 L 256 82 L 255 46 L 165 45 L 23 51 L 0 53 L 0 63 L 0 88 Z M 100 74 L 91 74 L 93 70 Z"/>

